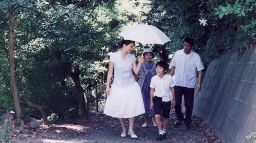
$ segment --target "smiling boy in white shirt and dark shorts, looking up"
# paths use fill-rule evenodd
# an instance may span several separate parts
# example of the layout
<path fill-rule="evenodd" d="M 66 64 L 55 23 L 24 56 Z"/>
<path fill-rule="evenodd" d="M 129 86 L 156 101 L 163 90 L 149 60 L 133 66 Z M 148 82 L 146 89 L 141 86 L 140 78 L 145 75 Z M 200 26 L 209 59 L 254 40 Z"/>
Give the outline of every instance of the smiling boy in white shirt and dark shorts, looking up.
<path fill-rule="evenodd" d="M 150 108 L 155 110 L 155 118 L 159 135 L 156 140 L 166 137 L 166 129 L 169 121 L 170 101 L 175 106 L 174 81 L 172 76 L 165 74 L 169 66 L 166 62 L 160 61 L 156 64 L 157 75 L 153 76 L 150 83 Z M 163 116 L 163 128 L 161 122 Z"/>

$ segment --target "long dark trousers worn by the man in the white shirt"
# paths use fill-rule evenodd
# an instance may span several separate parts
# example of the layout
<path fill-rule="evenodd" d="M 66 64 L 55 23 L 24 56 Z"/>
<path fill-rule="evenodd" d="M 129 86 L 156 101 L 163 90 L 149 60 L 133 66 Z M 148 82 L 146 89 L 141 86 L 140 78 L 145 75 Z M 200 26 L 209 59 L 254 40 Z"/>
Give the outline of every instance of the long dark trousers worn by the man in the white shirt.
<path fill-rule="evenodd" d="M 193 111 L 193 106 L 194 106 L 194 88 L 186 88 L 186 87 L 180 87 L 180 86 L 175 86 L 174 87 L 175 91 L 175 112 L 177 115 L 177 119 L 180 121 L 184 120 L 183 113 L 181 112 L 181 98 L 182 95 L 184 94 L 184 101 L 185 101 L 185 108 L 186 108 L 186 118 L 184 120 L 184 123 L 186 126 L 190 125 L 191 123 L 191 116 L 192 116 L 192 111 Z"/>

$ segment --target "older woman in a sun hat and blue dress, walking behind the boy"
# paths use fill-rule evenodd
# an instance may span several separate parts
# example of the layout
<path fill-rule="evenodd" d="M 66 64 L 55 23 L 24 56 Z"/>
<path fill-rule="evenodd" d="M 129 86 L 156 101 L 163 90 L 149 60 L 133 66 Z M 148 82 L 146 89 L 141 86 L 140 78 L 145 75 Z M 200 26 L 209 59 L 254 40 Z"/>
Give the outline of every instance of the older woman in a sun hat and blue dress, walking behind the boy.
<path fill-rule="evenodd" d="M 156 75 L 156 63 L 152 61 L 155 58 L 156 54 L 151 49 L 144 49 L 142 52 L 144 56 L 144 62 L 140 68 L 139 72 L 139 81 L 141 94 L 143 98 L 145 113 L 143 114 L 144 124 L 142 127 L 147 127 L 148 121 L 147 117 L 152 115 L 153 125 L 157 126 L 155 122 L 154 109 L 150 109 L 150 82 L 151 78 Z"/>

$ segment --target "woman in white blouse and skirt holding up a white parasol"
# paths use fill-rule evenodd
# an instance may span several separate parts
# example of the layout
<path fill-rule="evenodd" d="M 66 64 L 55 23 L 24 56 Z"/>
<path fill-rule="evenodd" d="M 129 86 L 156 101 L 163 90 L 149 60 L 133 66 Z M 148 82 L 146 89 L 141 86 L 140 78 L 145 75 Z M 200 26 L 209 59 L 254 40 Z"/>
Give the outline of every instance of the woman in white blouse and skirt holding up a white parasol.
<path fill-rule="evenodd" d="M 128 135 L 137 138 L 133 131 L 134 117 L 145 112 L 140 87 L 136 82 L 133 72 L 138 75 L 141 64 L 144 61 L 143 56 L 136 65 L 135 55 L 130 53 L 135 42 L 130 40 L 121 40 L 121 49 L 110 56 L 109 72 L 106 79 L 106 95 L 104 114 L 119 118 L 122 126 L 121 137 L 126 136 L 125 118 L 129 118 Z M 114 81 L 110 89 L 110 80 L 114 72 Z"/>

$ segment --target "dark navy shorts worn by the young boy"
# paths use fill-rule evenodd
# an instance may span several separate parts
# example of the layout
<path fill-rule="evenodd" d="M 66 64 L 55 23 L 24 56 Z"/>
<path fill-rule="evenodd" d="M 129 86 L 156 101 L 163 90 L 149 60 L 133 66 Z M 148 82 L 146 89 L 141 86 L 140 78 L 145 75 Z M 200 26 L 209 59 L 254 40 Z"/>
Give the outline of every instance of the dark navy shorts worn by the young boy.
<path fill-rule="evenodd" d="M 153 97 L 155 115 L 162 115 L 163 118 L 169 118 L 170 101 L 163 102 L 162 97 Z"/>

